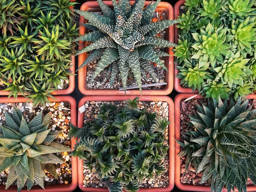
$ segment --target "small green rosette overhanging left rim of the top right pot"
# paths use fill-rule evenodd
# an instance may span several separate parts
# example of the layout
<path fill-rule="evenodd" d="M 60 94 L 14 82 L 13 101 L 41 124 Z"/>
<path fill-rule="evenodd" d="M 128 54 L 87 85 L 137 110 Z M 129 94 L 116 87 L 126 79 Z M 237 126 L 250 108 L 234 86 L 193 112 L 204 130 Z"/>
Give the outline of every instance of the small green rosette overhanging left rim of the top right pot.
<path fill-rule="evenodd" d="M 174 56 L 177 57 L 177 60 L 179 60 L 179 62 L 185 61 L 185 59 L 190 58 L 190 55 L 191 55 L 191 52 L 189 51 L 190 46 L 191 46 L 191 43 L 188 43 L 187 40 L 181 41 L 179 39 L 178 46 L 175 47 L 174 49 L 175 51 Z"/>

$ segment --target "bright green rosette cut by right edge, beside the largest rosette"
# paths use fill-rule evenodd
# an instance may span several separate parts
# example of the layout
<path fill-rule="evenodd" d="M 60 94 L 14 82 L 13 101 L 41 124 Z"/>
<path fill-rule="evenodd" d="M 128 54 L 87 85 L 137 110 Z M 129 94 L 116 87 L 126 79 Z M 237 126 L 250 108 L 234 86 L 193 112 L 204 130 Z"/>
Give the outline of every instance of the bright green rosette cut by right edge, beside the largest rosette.
<path fill-rule="evenodd" d="M 252 55 L 253 46 L 256 44 L 255 17 L 247 17 L 244 21 L 233 20 L 231 27 L 231 34 L 234 35 L 233 47 L 236 47 L 244 57 L 247 57 L 247 53 Z"/>

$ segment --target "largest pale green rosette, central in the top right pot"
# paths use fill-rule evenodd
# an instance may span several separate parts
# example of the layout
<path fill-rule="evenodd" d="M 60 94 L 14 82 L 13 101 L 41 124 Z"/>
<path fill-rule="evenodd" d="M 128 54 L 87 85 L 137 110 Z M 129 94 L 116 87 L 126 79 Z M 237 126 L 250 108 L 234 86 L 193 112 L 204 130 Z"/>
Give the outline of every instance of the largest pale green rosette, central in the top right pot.
<path fill-rule="evenodd" d="M 233 39 L 233 35 L 226 35 L 227 28 L 223 26 L 213 27 L 211 23 L 207 27 L 201 28 L 201 33 L 192 33 L 195 44 L 192 47 L 196 50 L 192 56 L 199 59 L 199 67 L 204 66 L 210 61 L 212 68 L 215 68 L 216 62 L 223 63 L 224 56 L 233 57 L 232 47 L 228 42 Z"/>

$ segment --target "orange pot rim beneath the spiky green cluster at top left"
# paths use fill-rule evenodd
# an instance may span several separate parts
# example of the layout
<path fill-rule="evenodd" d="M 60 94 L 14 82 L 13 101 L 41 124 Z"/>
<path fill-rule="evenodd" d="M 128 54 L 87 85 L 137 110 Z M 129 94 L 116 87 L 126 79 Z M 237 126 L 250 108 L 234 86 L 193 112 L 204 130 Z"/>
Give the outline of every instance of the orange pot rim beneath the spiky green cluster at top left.
<path fill-rule="evenodd" d="M 70 67 L 70 71 L 72 74 L 75 74 L 75 57 L 72 57 L 72 62 L 70 63 L 70 65 L 73 65 L 72 67 Z M 67 87 L 67 89 L 60 89 L 60 90 L 55 90 L 52 92 L 52 95 L 67 95 L 73 92 L 73 90 L 75 89 L 75 76 L 69 76 L 69 85 Z M 9 95 L 9 91 L 6 90 L 0 90 L 0 95 Z M 19 93 L 18 95 L 22 95 L 21 93 Z"/>

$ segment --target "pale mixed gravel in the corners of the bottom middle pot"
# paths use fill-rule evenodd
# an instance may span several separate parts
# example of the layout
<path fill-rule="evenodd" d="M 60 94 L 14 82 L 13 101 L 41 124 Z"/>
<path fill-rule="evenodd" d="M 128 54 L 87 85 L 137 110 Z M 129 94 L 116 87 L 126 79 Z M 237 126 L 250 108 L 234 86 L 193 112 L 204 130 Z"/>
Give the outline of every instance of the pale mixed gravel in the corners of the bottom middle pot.
<path fill-rule="evenodd" d="M 103 105 L 103 103 L 111 103 L 112 105 L 116 106 L 122 106 L 124 103 L 123 102 L 95 102 L 95 101 L 87 101 L 84 104 L 84 107 L 86 111 L 84 112 L 84 123 L 85 122 L 90 122 L 92 121 L 95 116 L 99 113 L 99 108 L 100 106 Z M 138 102 L 138 107 L 140 109 L 146 108 L 147 111 L 154 113 L 157 113 L 157 117 L 160 119 L 167 119 L 169 116 L 169 105 L 167 102 Z M 168 140 L 168 128 L 166 128 L 166 139 Z M 169 145 L 168 141 L 164 143 L 164 145 Z M 143 182 L 141 183 L 141 187 L 148 187 L 148 188 L 153 188 L 153 187 L 166 187 L 169 184 L 169 175 L 168 175 L 168 170 L 169 170 L 169 159 L 168 155 L 166 155 L 165 161 L 164 161 L 164 166 L 166 166 L 167 171 L 161 174 L 159 177 L 156 177 L 154 175 L 153 179 L 144 179 Z M 106 187 L 105 184 L 101 183 L 101 181 L 98 179 L 96 170 L 93 170 L 93 172 L 90 172 L 88 167 L 85 165 L 83 166 L 84 170 L 84 187 L 86 186 L 92 186 L 92 187 Z"/>

